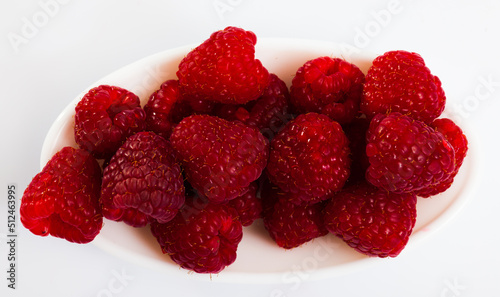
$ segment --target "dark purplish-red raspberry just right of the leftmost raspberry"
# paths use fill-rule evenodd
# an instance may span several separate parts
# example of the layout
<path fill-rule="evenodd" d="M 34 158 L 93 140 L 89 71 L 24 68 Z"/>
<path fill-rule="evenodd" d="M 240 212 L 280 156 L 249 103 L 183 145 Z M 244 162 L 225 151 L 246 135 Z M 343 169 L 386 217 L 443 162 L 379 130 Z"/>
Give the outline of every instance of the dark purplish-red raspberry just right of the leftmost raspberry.
<path fill-rule="evenodd" d="M 171 220 L 184 203 L 181 168 L 170 144 L 153 132 L 129 137 L 104 169 L 104 217 L 143 227 Z"/>

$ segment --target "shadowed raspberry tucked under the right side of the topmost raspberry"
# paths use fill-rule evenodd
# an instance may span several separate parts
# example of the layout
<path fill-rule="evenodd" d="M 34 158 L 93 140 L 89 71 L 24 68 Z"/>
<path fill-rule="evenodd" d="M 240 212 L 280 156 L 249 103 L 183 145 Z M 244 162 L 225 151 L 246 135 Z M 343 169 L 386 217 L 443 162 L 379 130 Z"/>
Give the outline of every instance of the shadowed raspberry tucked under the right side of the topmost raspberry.
<path fill-rule="evenodd" d="M 215 115 L 256 127 L 271 139 L 292 118 L 289 102 L 290 94 L 285 82 L 271 73 L 269 86 L 257 100 L 240 105 L 223 104 L 216 108 Z"/>

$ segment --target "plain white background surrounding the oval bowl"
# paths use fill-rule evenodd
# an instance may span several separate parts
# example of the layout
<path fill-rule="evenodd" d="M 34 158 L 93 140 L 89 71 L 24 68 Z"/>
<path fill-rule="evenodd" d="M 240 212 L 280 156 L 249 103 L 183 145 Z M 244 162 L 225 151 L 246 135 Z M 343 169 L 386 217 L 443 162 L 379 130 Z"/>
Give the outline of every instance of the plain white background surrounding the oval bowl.
<path fill-rule="evenodd" d="M 480 183 L 457 217 L 431 238 L 324 281 L 290 285 L 198 282 L 125 262 L 92 244 L 32 235 L 18 225 L 18 289 L 7 289 L 7 244 L 0 246 L 1 296 L 499 296 L 498 116 L 500 2 L 77 1 L 0 4 L 0 231 L 7 184 L 18 196 L 39 171 L 52 122 L 82 90 L 150 54 L 201 43 L 227 25 L 258 38 L 344 43 L 424 57 L 481 156 Z M 256 255 L 258 256 L 258 254 Z"/>

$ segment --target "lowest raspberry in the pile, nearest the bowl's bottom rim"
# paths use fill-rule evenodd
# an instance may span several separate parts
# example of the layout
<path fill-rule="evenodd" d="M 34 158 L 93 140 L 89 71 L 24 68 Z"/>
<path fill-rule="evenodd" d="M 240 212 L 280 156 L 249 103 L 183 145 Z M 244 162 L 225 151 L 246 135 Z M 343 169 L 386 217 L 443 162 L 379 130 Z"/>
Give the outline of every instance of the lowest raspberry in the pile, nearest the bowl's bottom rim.
<path fill-rule="evenodd" d="M 163 253 L 182 268 L 219 273 L 236 260 L 242 225 L 232 207 L 198 199 L 187 199 L 172 221 L 152 223 L 151 232 Z"/>

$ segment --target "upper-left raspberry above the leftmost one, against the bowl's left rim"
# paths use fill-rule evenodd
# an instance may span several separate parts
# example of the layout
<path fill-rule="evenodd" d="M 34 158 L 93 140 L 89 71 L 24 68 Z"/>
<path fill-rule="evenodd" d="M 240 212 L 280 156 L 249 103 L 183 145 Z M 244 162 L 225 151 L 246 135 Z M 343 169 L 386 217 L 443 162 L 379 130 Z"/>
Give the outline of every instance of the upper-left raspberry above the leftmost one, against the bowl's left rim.
<path fill-rule="evenodd" d="M 146 126 L 139 97 L 115 86 L 89 90 L 75 112 L 75 141 L 98 159 L 110 158 L 128 136 Z"/>

